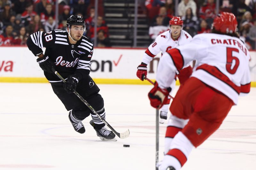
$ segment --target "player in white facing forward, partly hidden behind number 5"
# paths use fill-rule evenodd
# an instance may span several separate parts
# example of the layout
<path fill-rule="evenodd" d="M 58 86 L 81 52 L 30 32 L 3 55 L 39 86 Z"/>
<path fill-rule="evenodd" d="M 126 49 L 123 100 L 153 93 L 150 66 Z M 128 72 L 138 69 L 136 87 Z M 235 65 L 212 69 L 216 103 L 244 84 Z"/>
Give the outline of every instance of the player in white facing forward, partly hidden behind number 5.
<path fill-rule="evenodd" d="M 170 30 L 157 36 L 155 42 L 152 43 L 145 51 L 142 62 L 137 67 L 137 77 L 142 81 L 144 80 L 144 76 L 147 76 L 147 65 L 160 51 L 162 52 L 162 54 L 164 54 L 170 49 L 176 48 L 180 45 L 188 44 L 192 40 L 192 37 L 188 34 L 188 32 L 182 30 L 183 21 L 180 19 L 180 17 L 173 17 L 169 21 L 169 24 Z M 180 74 L 178 75 L 180 83 L 183 84 L 184 81 L 186 81 L 191 75 L 191 73 L 192 68 L 190 66 L 181 70 Z M 171 85 L 171 92 L 175 87 L 175 82 L 175 79 L 173 79 Z M 167 119 L 167 112 L 170 100 L 171 98 L 168 98 L 160 111 L 160 123 L 164 123 L 164 121 Z"/>

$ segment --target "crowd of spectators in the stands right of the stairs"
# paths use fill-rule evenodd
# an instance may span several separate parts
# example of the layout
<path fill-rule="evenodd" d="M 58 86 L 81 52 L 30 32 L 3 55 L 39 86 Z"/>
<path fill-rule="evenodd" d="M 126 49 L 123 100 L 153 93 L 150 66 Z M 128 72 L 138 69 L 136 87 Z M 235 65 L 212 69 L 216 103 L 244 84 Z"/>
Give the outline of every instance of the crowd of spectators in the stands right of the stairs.
<path fill-rule="evenodd" d="M 146 0 L 149 36 L 152 41 L 168 30 L 168 21 L 175 15 L 175 0 Z M 192 37 L 209 33 L 216 14 L 215 0 L 180 0 L 178 16 L 184 21 L 183 30 Z M 232 12 L 238 21 L 238 32 L 248 49 L 256 46 L 256 0 L 220 0 L 220 12 Z"/>

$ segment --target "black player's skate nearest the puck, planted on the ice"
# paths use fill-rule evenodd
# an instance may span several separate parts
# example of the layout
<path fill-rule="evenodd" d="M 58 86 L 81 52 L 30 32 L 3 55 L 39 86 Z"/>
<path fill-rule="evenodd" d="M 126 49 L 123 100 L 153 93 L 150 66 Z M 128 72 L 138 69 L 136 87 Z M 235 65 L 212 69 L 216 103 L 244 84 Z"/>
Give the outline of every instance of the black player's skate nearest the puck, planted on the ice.
<path fill-rule="evenodd" d="M 90 124 L 92 127 L 95 127 L 95 124 L 93 120 L 90 121 Z M 96 131 L 96 134 L 98 137 L 100 137 L 101 140 L 107 140 L 107 141 L 117 141 L 116 134 L 113 131 L 109 131 L 105 126 L 102 128 L 94 128 Z"/>

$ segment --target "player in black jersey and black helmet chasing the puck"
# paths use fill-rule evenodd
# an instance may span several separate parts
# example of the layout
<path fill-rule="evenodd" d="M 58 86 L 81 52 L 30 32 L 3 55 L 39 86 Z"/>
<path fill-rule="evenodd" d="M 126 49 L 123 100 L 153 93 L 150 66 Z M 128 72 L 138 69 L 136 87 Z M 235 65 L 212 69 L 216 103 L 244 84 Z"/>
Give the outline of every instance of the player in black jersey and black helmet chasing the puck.
<path fill-rule="evenodd" d="M 54 93 L 69 112 L 69 120 L 74 129 L 84 133 L 82 120 L 92 116 L 90 124 L 101 140 L 116 141 L 113 131 L 73 93 L 76 90 L 105 119 L 103 98 L 100 89 L 89 76 L 93 53 L 92 42 L 83 36 L 85 22 L 81 16 L 71 15 L 67 20 L 67 31 L 52 30 L 35 32 L 27 40 L 30 51 L 38 57 L 36 60 L 44 70 Z M 42 47 L 46 47 L 43 54 Z M 63 83 L 53 72 L 52 67 L 67 81 Z"/>

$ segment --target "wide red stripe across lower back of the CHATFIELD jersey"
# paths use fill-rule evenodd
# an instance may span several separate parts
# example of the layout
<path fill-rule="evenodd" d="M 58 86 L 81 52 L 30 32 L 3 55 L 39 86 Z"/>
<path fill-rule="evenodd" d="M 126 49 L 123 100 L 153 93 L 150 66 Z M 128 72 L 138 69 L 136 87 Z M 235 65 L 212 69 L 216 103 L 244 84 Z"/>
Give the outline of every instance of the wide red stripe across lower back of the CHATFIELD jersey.
<path fill-rule="evenodd" d="M 226 83 L 228 86 L 230 86 L 232 89 L 236 91 L 237 94 L 241 92 L 241 88 L 239 86 L 236 86 L 235 83 L 233 83 L 225 74 L 223 74 L 217 67 L 210 66 L 208 64 L 203 64 L 196 68 L 196 70 L 201 69 L 206 71 L 207 73 L 213 75 L 220 81 Z"/>

